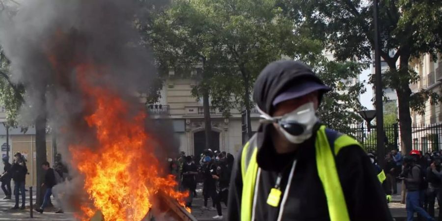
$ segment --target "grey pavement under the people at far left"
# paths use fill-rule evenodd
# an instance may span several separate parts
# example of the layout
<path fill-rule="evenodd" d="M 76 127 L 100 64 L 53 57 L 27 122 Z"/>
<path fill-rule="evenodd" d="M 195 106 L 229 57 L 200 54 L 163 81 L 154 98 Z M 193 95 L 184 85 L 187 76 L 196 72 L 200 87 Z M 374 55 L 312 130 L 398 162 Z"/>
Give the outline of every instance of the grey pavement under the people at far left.
<path fill-rule="evenodd" d="M 28 187 L 27 187 L 28 189 Z M 35 190 L 35 188 L 33 188 Z M 15 204 L 15 198 L 1 199 L 4 197 L 4 193 L 0 191 L 0 221 L 75 221 L 73 213 L 65 212 L 64 214 L 56 214 L 53 208 L 45 209 L 43 214 L 33 211 L 33 218 L 29 215 L 29 192 L 26 192 L 26 209 L 25 210 L 11 210 Z M 35 203 L 35 192 L 32 196 Z M 55 203 L 55 200 L 52 200 Z M 20 204 L 21 205 L 21 199 Z"/>

